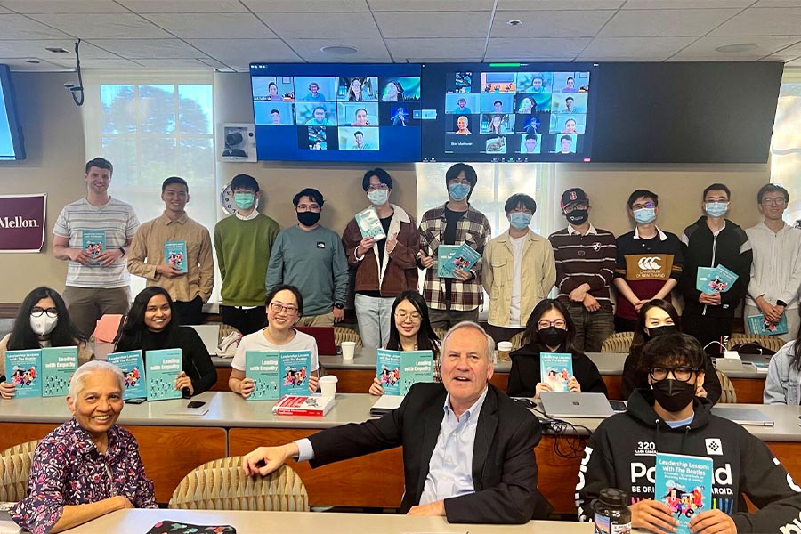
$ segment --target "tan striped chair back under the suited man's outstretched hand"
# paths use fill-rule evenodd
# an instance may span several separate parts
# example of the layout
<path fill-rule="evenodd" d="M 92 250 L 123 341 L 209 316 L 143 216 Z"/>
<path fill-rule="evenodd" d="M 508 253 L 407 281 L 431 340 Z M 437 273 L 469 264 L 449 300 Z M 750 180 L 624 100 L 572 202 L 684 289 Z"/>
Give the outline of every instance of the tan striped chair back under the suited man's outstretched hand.
<path fill-rule="evenodd" d="M 242 457 L 226 457 L 206 462 L 183 477 L 169 507 L 308 512 L 309 495 L 303 481 L 288 465 L 265 477 L 252 477 L 242 470 Z"/>

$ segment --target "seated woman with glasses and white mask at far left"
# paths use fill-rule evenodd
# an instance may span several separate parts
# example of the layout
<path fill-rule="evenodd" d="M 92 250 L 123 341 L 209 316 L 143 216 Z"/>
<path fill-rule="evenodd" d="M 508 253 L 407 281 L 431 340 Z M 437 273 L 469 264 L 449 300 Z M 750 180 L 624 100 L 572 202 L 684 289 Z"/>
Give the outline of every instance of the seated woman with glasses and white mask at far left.
<path fill-rule="evenodd" d="M 16 386 L 6 382 L 5 352 L 77 346 L 78 365 L 94 359 L 86 338 L 69 320 L 67 305 L 50 287 L 36 287 L 20 305 L 11 334 L 0 340 L 0 398 L 11 399 Z"/>

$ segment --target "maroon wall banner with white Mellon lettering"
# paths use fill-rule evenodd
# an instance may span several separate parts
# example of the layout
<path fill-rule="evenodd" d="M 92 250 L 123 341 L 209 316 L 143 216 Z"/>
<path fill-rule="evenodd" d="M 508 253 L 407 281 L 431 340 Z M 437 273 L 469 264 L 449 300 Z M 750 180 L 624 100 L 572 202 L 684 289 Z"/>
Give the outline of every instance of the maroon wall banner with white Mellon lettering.
<path fill-rule="evenodd" d="M 47 194 L 0 195 L 0 252 L 41 252 Z"/>

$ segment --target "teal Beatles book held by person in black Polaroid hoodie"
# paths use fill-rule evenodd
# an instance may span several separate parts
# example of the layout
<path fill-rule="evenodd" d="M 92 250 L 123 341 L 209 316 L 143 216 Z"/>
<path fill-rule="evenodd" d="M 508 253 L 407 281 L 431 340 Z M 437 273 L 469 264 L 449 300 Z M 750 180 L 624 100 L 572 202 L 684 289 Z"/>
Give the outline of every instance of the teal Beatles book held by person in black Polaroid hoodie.
<path fill-rule="evenodd" d="M 678 520 L 678 534 L 690 534 L 690 520 L 712 506 L 712 458 L 656 455 L 654 500 Z"/>

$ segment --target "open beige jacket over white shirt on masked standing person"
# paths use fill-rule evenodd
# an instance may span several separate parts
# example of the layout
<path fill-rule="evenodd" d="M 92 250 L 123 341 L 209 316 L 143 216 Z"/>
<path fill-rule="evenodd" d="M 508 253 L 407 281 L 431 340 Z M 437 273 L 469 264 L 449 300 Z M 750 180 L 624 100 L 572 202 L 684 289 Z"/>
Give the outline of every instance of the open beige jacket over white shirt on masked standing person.
<path fill-rule="evenodd" d="M 484 248 L 481 263 L 481 284 L 490 295 L 490 325 L 506 327 L 512 307 L 512 273 L 514 258 L 509 231 L 490 240 Z M 556 283 L 554 249 L 548 239 L 529 230 L 523 245 L 521 268 L 520 323 L 525 326 L 531 311 L 546 298 Z"/>

